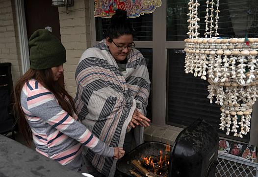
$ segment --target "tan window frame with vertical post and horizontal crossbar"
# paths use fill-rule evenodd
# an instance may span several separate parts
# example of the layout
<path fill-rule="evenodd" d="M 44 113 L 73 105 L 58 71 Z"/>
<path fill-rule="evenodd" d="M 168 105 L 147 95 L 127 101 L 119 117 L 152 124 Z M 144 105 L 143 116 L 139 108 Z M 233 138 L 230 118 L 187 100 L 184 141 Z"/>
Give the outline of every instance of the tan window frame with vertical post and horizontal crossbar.
<path fill-rule="evenodd" d="M 135 41 L 136 47 L 153 48 L 152 109 L 153 124 L 181 132 L 183 128 L 167 125 L 167 49 L 184 48 L 183 41 L 166 41 L 167 2 L 153 12 L 153 41 Z M 96 44 L 94 1 L 90 1 L 91 42 Z M 164 69 L 166 68 L 166 69 Z M 258 101 L 253 107 L 249 144 L 258 146 Z M 225 138 L 224 138 L 225 139 Z"/>

